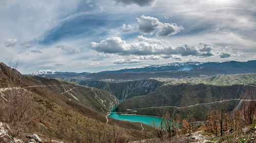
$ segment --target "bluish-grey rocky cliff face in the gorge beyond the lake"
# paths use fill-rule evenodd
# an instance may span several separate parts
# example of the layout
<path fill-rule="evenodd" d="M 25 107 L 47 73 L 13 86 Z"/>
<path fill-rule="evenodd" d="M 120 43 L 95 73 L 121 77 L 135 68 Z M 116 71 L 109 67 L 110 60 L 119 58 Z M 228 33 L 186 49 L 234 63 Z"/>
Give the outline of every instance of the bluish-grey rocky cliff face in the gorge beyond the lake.
<path fill-rule="evenodd" d="M 119 100 L 147 95 L 157 90 L 164 82 L 155 79 L 111 83 L 105 81 L 80 81 L 79 84 L 109 91 Z"/>

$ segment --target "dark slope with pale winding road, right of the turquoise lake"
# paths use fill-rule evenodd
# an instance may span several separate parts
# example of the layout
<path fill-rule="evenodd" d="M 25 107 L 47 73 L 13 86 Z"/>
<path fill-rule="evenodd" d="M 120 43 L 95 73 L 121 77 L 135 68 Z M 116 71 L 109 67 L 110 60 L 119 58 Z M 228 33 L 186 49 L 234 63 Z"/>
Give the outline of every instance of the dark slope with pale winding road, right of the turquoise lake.
<path fill-rule="evenodd" d="M 215 86 L 185 83 L 163 85 L 151 94 L 123 101 L 116 111 L 159 116 L 162 110 L 168 109 L 173 117 L 176 113 L 182 118 L 190 114 L 196 120 L 202 121 L 207 111 L 216 109 L 222 104 L 225 104 L 229 111 L 240 106 L 241 101 L 250 99 L 250 92 L 255 99 L 254 85 Z"/>

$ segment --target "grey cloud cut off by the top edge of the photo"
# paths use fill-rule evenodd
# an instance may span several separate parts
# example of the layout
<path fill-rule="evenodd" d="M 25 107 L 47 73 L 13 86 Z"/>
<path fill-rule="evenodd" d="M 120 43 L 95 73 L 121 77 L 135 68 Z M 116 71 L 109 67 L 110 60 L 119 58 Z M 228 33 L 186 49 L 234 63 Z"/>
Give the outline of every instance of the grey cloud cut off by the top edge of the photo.
<path fill-rule="evenodd" d="M 156 0 L 116 0 L 117 3 L 123 3 L 126 5 L 132 5 L 136 4 L 140 7 L 145 7 L 145 6 L 152 6 L 155 4 Z"/>

